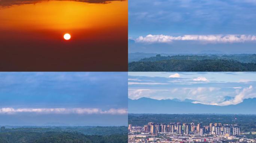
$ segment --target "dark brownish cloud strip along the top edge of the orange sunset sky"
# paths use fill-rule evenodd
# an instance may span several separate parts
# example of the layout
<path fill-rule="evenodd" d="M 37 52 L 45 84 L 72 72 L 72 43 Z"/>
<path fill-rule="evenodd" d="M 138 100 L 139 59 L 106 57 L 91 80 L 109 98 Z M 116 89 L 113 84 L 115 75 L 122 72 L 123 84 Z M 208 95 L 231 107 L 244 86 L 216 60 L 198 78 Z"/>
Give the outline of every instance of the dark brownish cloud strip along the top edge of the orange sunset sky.
<path fill-rule="evenodd" d="M 1 7 L 8 7 L 13 5 L 21 5 L 21 4 L 35 4 L 40 3 L 42 1 L 49 0 L 0 0 Z M 111 1 L 125 1 L 125 0 L 57 0 L 57 1 L 79 1 L 85 3 L 110 3 Z"/>

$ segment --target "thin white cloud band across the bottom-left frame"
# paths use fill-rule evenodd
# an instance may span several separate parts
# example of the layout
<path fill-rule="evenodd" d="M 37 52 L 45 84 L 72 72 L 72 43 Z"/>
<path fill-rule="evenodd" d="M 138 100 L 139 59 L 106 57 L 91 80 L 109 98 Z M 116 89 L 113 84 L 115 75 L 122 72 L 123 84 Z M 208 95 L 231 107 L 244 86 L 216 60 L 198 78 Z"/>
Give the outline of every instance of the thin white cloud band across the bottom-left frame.
<path fill-rule="evenodd" d="M 42 114 L 127 114 L 127 109 L 101 110 L 99 108 L 0 108 L 0 114 L 15 113 L 42 113 Z"/>

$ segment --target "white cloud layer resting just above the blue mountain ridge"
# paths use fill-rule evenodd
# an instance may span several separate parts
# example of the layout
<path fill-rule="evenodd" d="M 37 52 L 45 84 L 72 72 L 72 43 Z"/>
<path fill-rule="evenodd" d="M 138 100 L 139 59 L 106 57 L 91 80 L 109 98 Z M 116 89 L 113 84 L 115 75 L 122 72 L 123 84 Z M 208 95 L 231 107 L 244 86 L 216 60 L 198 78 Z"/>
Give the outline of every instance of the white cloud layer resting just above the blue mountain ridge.
<path fill-rule="evenodd" d="M 247 88 L 234 89 L 234 92 L 223 92 L 221 88 L 216 87 L 198 87 L 198 88 L 170 88 L 170 89 L 129 89 L 128 97 L 130 99 L 139 99 L 142 97 L 152 99 L 173 99 L 180 100 L 193 99 L 193 103 L 207 105 L 235 105 L 243 102 L 244 99 L 255 98 L 256 93 L 253 92 L 253 86 Z M 232 96 L 235 95 L 235 96 Z M 234 98 L 226 100 L 227 96 Z"/>

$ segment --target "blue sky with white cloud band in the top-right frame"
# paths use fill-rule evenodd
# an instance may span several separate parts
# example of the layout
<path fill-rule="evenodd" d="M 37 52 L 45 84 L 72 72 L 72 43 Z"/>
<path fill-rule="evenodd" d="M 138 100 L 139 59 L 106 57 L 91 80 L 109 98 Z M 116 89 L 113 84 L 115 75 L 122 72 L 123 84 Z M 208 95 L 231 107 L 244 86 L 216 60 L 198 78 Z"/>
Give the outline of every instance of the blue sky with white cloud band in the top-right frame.
<path fill-rule="evenodd" d="M 129 53 L 256 53 L 255 0 L 128 3 Z"/>

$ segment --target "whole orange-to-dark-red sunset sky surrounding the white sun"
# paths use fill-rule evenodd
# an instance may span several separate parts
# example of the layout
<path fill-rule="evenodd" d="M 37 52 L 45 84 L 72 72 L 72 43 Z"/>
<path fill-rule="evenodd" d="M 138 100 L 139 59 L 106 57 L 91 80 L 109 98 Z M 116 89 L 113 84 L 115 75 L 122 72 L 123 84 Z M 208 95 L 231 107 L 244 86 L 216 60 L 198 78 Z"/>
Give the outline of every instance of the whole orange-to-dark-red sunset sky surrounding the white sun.
<path fill-rule="evenodd" d="M 127 71 L 128 1 L 1 7 L 0 33 L 0 71 Z"/>

